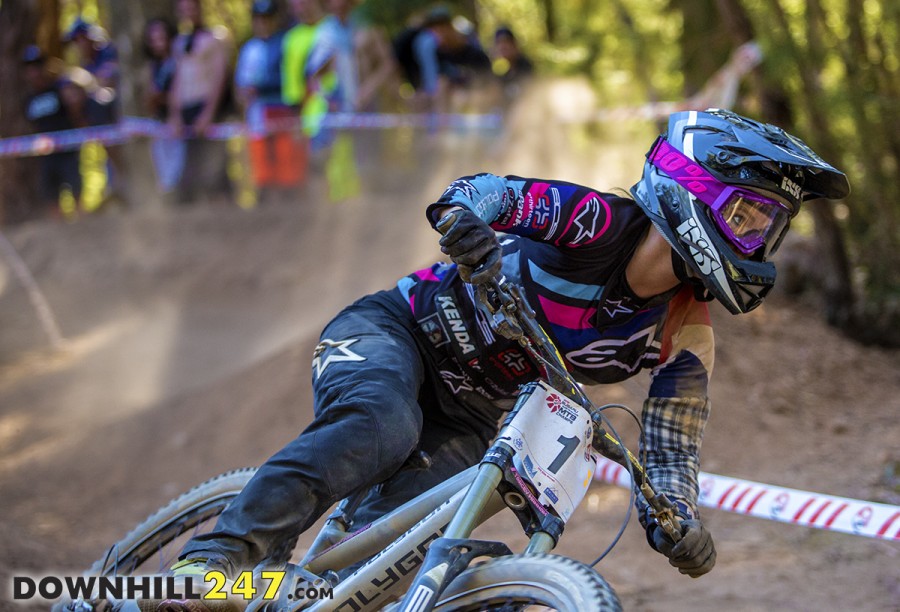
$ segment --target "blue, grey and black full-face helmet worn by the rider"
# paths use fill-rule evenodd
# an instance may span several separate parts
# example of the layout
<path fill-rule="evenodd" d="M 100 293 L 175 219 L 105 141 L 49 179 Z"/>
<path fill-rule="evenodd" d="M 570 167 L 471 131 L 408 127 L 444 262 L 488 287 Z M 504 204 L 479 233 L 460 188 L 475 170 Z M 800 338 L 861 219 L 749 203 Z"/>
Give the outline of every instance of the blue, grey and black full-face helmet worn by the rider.
<path fill-rule="evenodd" d="M 672 246 L 678 277 L 739 314 L 775 284 L 767 259 L 801 203 L 843 198 L 850 185 L 781 128 L 709 109 L 669 117 L 631 193 Z"/>

